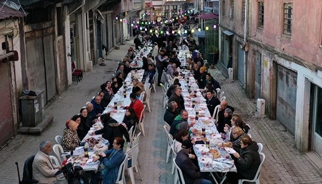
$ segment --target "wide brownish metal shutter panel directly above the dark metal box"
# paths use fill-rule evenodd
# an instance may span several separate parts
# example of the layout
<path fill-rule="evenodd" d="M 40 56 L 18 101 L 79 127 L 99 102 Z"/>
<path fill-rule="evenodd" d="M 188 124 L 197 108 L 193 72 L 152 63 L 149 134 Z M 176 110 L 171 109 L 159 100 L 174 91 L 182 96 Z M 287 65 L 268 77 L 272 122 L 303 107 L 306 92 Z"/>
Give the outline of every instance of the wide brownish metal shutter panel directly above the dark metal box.
<path fill-rule="evenodd" d="M 42 37 L 26 41 L 26 53 L 29 90 L 36 88 L 46 90 Z M 44 100 L 47 102 L 46 93 Z"/>

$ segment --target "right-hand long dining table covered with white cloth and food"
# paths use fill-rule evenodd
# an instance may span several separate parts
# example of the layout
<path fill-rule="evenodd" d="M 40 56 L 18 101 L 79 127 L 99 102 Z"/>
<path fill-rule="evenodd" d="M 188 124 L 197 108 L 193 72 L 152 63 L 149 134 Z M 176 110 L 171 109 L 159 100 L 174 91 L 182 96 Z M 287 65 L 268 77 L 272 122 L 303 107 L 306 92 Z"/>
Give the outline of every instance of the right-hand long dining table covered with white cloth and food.
<path fill-rule="evenodd" d="M 227 172 L 237 172 L 237 169 L 234 160 L 226 149 L 218 148 L 218 143 L 223 143 L 223 140 L 206 106 L 206 100 L 199 89 L 189 87 L 196 83 L 195 78 L 189 73 L 186 73 L 186 76 L 185 79 L 181 79 L 179 82 L 182 88 L 181 95 L 185 100 L 185 109 L 189 113 L 188 123 L 194 123 L 190 130 L 198 130 L 198 133 L 191 134 L 191 137 L 199 143 L 203 141 L 203 144 L 193 146 L 200 172 L 210 172 L 217 184 L 218 181 L 214 173 L 217 176 L 218 172 L 223 173 L 221 184 L 226 179 Z M 204 132 L 202 132 L 203 128 Z M 206 144 L 208 141 L 209 144 Z"/>

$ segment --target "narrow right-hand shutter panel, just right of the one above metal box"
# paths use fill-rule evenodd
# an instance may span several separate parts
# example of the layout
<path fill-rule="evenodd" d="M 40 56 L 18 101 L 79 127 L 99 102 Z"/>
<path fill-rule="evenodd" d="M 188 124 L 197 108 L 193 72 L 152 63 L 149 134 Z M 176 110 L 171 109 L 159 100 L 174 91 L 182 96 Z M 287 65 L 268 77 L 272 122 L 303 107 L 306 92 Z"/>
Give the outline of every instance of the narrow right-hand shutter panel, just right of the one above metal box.
<path fill-rule="evenodd" d="M 46 78 L 46 92 L 47 101 L 52 99 L 56 95 L 56 76 L 55 76 L 55 57 L 54 57 L 54 41 L 53 35 L 44 36 L 43 38 L 43 50 L 45 61 L 45 78 Z M 46 100 L 46 98 L 45 98 Z"/>

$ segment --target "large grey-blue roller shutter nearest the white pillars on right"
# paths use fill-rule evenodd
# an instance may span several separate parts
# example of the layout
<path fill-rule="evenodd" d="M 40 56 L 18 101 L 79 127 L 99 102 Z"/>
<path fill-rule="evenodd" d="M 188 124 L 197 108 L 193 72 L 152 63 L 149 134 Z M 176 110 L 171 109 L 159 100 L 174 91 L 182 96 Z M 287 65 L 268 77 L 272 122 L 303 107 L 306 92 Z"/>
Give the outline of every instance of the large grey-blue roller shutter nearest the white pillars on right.
<path fill-rule="evenodd" d="M 295 134 L 297 73 L 278 65 L 276 117 Z"/>

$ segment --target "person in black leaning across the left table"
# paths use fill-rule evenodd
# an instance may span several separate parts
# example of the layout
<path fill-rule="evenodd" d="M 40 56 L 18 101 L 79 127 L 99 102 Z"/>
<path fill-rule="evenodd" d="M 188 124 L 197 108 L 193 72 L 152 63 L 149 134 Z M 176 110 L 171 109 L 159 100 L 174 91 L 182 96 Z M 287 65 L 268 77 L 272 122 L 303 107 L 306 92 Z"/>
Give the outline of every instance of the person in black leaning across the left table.
<path fill-rule="evenodd" d="M 109 142 L 109 146 L 108 146 L 109 149 L 112 148 L 113 146 L 112 143 L 115 137 L 118 137 L 118 136 L 123 137 L 124 135 L 125 139 L 129 141 L 129 134 L 127 129 L 123 125 L 119 124 L 112 117 L 110 117 L 110 113 L 102 114 L 100 119 L 104 126 L 103 129 L 93 131 L 90 134 L 91 135 L 102 134 L 102 137 L 108 140 Z"/>

